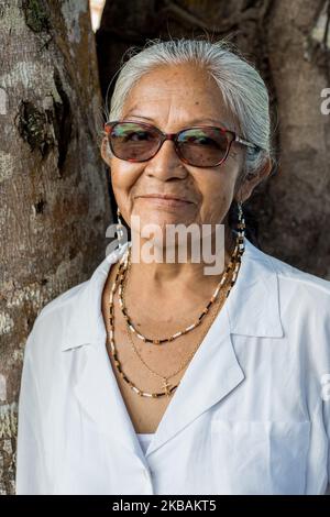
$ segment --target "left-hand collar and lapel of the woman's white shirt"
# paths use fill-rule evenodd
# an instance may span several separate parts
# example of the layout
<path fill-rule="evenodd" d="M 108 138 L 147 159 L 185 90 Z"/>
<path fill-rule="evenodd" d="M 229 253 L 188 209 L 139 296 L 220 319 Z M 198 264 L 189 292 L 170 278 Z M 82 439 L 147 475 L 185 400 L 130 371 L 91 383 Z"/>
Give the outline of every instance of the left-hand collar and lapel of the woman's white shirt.
<path fill-rule="evenodd" d="M 101 295 L 110 266 L 119 260 L 124 249 L 125 246 L 108 255 L 82 286 L 67 326 L 63 351 L 80 346 L 76 352 L 84 355 L 79 361 L 77 382 L 74 385 L 82 410 L 95 421 L 106 439 L 113 442 L 113 447 L 120 442 L 145 464 L 108 358 L 107 332 L 101 311 Z"/>

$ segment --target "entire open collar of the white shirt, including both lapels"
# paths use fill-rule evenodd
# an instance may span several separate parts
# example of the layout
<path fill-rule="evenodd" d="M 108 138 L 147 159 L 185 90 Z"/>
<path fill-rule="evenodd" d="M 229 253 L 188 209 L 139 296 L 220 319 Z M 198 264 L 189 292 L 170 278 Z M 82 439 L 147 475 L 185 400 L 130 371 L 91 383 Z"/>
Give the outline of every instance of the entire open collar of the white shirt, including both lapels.
<path fill-rule="evenodd" d="M 228 396 L 244 380 L 233 349 L 232 333 L 283 336 L 278 318 L 277 278 L 265 256 L 245 240 L 237 284 L 172 395 L 147 455 Z M 86 358 L 75 385 L 77 398 L 100 431 L 112 440 L 113 447 L 120 442 L 145 463 L 106 350 L 101 292 L 110 263 L 116 262 L 117 257 L 113 255 L 112 260 L 108 257 L 103 261 L 79 294 L 77 311 L 73 314 L 63 349 L 86 343 L 79 350 Z M 265 280 L 268 283 L 266 286 Z M 266 304 L 265 289 L 270 296 Z M 79 319 L 76 320 L 78 314 Z M 85 318 L 82 326 L 81 318 Z"/>

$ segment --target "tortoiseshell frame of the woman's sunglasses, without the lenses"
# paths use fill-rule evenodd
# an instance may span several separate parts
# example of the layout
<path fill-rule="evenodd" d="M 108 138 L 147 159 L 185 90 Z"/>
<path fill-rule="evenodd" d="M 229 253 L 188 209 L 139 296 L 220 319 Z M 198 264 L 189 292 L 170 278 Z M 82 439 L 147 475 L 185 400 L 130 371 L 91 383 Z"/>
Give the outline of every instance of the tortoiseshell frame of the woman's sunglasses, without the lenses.
<path fill-rule="evenodd" d="M 111 144 L 110 133 L 111 133 L 112 129 L 116 125 L 122 124 L 122 123 L 133 123 L 133 124 L 142 125 L 143 128 L 150 128 L 150 129 L 156 131 L 160 134 L 160 145 L 158 145 L 157 150 L 155 151 L 155 153 L 152 156 L 150 156 L 148 158 L 145 158 L 145 160 L 135 160 L 135 158 L 125 160 L 125 158 L 121 158 L 121 157 L 117 156 L 117 154 L 113 151 L 112 144 Z M 224 133 L 226 136 L 228 134 L 231 135 L 231 139 L 227 138 L 228 145 L 227 145 L 227 151 L 226 151 L 224 157 L 220 162 L 218 162 L 216 165 L 194 165 L 194 164 L 189 163 L 182 155 L 178 143 L 177 143 L 177 139 L 178 139 L 180 133 L 183 133 L 184 131 L 187 131 L 187 130 L 191 130 L 191 129 L 210 129 L 210 130 L 220 131 L 221 133 Z M 177 154 L 177 156 L 179 157 L 179 160 L 182 162 L 184 162 L 185 164 L 190 165 L 193 167 L 199 167 L 199 168 L 218 167 L 219 165 L 221 165 L 227 160 L 227 157 L 229 155 L 229 152 L 230 152 L 230 148 L 231 148 L 231 144 L 233 142 L 238 142 L 242 145 L 246 145 L 249 147 L 260 150 L 260 147 L 257 145 L 255 145 L 251 142 L 248 142 L 246 140 L 239 136 L 234 131 L 228 130 L 227 128 L 223 128 L 221 125 L 193 125 L 190 128 L 184 128 L 180 131 L 178 131 L 177 133 L 164 133 L 156 125 L 148 124 L 147 122 L 138 122 L 136 120 L 116 120 L 116 121 L 109 121 L 109 122 L 105 123 L 105 132 L 108 136 L 108 142 L 109 142 L 110 150 L 111 150 L 112 154 L 119 160 L 124 160 L 125 162 L 131 162 L 131 163 L 148 162 L 150 160 L 152 160 L 157 154 L 157 152 L 160 151 L 160 148 L 162 147 L 163 143 L 166 140 L 170 140 L 174 143 L 176 154 Z"/>

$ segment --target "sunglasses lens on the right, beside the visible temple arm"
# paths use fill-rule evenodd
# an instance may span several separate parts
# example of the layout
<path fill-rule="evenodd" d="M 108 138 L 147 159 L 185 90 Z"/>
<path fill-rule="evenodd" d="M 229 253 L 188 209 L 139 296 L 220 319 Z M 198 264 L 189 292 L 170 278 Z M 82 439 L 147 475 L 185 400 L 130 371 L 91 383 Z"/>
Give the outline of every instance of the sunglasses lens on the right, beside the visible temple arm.
<path fill-rule="evenodd" d="M 229 146 L 227 133 L 212 128 L 182 131 L 177 139 L 180 155 L 190 165 L 213 167 L 221 162 Z"/>

